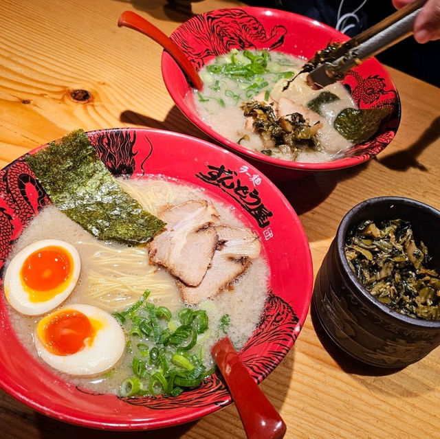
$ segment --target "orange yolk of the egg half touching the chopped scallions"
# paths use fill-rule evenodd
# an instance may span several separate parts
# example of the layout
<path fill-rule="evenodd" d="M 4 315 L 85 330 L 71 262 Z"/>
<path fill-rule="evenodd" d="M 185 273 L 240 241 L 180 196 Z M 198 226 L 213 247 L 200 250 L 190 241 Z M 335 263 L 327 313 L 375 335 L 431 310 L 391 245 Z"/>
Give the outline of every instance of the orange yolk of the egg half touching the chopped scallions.
<path fill-rule="evenodd" d="M 45 348 L 55 355 L 72 355 L 91 346 L 100 322 L 74 309 L 56 311 L 39 322 L 36 331 Z"/>

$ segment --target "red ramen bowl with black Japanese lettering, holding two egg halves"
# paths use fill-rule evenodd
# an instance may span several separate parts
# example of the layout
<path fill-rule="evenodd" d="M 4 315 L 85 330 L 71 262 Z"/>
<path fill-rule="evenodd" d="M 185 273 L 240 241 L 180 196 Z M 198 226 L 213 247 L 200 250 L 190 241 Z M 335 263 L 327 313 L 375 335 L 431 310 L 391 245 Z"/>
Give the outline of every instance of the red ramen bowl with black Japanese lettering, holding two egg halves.
<path fill-rule="evenodd" d="M 311 300 L 309 244 L 292 206 L 259 170 L 200 139 L 133 128 L 87 135 L 113 175 L 164 176 L 197 186 L 232 207 L 258 234 L 270 268 L 267 298 L 260 323 L 239 354 L 254 380 L 261 382 L 292 348 Z M 0 267 L 4 274 L 15 241 L 51 202 L 24 157 L 1 171 L 0 184 Z M 201 418 L 232 402 L 217 372 L 200 387 L 175 397 L 122 398 L 90 392 L 64 381 L 26 350 L 12 328 L 9 311 L 2 286 L 0 387 L 47 416 L 100 429 L 156 429 Z"/>

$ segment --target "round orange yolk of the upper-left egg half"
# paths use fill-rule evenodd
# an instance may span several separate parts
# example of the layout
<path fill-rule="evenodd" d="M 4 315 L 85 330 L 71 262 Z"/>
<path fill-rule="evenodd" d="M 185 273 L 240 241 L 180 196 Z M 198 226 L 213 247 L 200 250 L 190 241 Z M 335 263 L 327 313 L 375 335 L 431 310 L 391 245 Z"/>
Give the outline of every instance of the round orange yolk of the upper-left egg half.
<path fill-rule="evenodd" d="M 63 247 L 43 247 L 30 254 L 21 267 L 23 288 L 31 302 L 45 302 L 65 289 L 74 262 Z"/>

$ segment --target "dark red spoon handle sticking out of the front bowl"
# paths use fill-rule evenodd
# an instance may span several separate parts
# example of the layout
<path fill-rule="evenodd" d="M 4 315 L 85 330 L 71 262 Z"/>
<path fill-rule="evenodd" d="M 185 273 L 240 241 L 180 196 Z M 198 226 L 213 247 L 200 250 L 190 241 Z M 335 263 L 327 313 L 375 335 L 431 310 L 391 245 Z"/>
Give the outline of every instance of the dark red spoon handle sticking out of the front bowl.
<path fill-rule="evenodd" d="M 211 348 L 212 357 L 229 387 L 249 439 L 281 439 L 286 425 L 275 407 L 261 392 L 228 337 Z"/>

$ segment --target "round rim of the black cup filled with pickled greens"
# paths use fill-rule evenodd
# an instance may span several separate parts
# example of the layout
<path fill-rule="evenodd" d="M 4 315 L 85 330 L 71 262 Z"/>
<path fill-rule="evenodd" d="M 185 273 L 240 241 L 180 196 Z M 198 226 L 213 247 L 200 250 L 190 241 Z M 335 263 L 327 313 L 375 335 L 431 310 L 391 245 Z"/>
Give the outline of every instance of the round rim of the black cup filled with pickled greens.
<path fill-rule="evenodd" d="M 344 278 L 350 283 L 351 291 L 355 291 L 358 297 L 362 298 L 365 302 L 371 306 L 372 309 L 378 311 L 382 316 L 388 319 L 395 319 L 396 322 L 404 324 L 405 326 L 412 326 L 413 328 L 423 328 L 426 330 L 439 329 L 440 330 L 440 320 L 425 320 L 418 319 L 415 317 L 410 317 L 409 315 L 404 315 L 393 310 L 386 304 L 383 304 L 377 300 L 369 291 L 362 286 L 355 273 L 351 270 L 347 258 L 344 253 L 344 240 L 349 227 L 355 222 L 358 215 L 364 212 L 366 208 L 371 205 L 395 205 L 395 204 L 408 205 L 411 208 L 417 210 L 423 210 L 426 214 L 434 216 L 440 223 L 440 211 L 434 207 L 417 201 L 415 199 L 406 198 L 403 196 L 377 196 L 371 199 L 366 199 L 352 207 L 347 214 L 344 215 L 338 231 L 336 232 L 336 251 L 338 254 L 338 259 L 341 262 L 342 271 L 344 271 Z"/>

